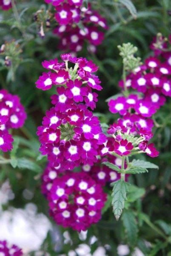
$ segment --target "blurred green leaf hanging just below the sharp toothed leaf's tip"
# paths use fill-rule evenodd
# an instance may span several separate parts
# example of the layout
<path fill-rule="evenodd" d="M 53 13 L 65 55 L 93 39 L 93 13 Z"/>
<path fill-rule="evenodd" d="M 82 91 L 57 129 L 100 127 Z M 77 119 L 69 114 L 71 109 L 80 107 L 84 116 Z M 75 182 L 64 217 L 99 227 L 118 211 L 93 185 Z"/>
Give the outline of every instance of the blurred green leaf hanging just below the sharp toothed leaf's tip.
<path fill-rule="evenodd" d="M 133 211 L 124 210 L 122 215 L 123 226 L 125 227 L 128 243 L 133 246 L 137 241 L 137 221 Z"/>

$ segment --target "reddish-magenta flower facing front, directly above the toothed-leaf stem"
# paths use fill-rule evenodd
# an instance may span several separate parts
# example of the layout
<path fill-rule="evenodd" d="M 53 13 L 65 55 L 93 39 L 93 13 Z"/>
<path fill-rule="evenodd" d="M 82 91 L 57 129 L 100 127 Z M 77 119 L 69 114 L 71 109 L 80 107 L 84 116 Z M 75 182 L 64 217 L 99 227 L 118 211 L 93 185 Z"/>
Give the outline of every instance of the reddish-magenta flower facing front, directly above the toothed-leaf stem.
<path fill-rule="evenodd" d="M 114 151 L 120 156 L 125 156 L 131 153 L 131 150 L 134 148 L 131 142 L 128 140 L 121 140 L 120 142 L 114 142 Z"/>

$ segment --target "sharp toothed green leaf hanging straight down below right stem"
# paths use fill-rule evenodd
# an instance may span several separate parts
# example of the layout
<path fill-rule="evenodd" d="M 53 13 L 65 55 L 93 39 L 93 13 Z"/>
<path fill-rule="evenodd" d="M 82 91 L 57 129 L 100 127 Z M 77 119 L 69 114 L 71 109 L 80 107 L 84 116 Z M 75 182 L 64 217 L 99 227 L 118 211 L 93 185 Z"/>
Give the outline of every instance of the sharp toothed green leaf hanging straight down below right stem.
<path fill-rule="evenodd" d="M 123 180 L 118 180 L 114 183 L 111 183 L 113 185 L 112 190 L 112 206 L 113 206 L 113 212 L 116 220 L 118 221 L 120 218 L 120 215 L 123 212 L 124 203 L 126 201 L 126 192 L 128 191 L 128 183 L 126 183 Z"/>

